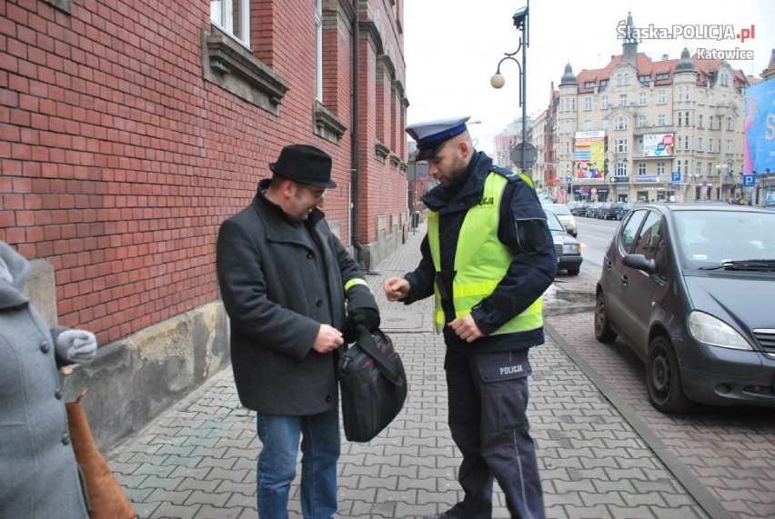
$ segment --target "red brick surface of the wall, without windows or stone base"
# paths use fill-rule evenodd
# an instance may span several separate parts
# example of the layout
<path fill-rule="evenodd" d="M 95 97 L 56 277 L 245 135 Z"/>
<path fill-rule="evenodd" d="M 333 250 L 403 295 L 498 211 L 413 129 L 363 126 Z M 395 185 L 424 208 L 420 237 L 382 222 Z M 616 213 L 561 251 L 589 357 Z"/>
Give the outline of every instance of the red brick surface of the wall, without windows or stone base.
<path fill-rule="evenodd" d="M 324 101 L 349 127 L 351 20 L 347 2 L 326 4 L 324 41 L 337 43 L 325 66 L 337 74 Z M 368 4 L 363 20 L 377 7 L 390 20 L 391 2 Z M 61 324 L 106 344 L 216 300 L 218 225 L 293 142 L 333 156 L 326 210 L 349 244 L 350 134 L 331 142 L 313 123 L 314 2 L 252 5 L 255 55 L 289 85 L 278 115 L 205 79 L 207 0 L 74 1 L 69 13 L 0 3 L 0 240 L 53 265 Z M 388 33 L 361 43 L 363 244 L 377 238 L 377 215 L 407 209 L 403 144 L 392 161 L 374 147 L 385 45 L 401 60 L 394 79 L 404 75 L 400 38 Z"/>

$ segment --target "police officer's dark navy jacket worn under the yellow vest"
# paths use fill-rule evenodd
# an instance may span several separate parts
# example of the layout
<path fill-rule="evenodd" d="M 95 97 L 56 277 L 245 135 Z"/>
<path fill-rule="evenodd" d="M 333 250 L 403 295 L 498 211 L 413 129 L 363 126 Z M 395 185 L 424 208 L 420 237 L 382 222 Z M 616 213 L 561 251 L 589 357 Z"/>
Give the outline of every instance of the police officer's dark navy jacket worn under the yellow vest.
<path fill-rule="evenodd" d="M 474 306 L 471 315 L 485 335 L 473 343 L 461 340 L 448 326 L 444 326 L 444 339 L 449 354 L 482 354 L 524 350 L 543 344 L 543 328 L 514 334 L 488 335 L 515 315 L 528 308 L 549 285 L 557 274 L 557 256 L 547 217 L 538 202 L 535 189 L 518 175 L 492 164 L 484 153 L 475 154 L 466 172 L 455 185 L 438 185 L 423 196 L 428 209 L 439 215 L 439 244 L 441 269 L 454 269 L 458 235 L 470 207 L 478 205 L 484 191 L 484 182 L 491 171 L 508 176 L 504 189 L 498 221 L 498 239 L 514 253 L 506 275 L 488 297 Z M 411 290 L 405 304 L 411 304 L 433 294 L 433 284 L 438 279 L 430 256 L 428 236 L 423 239 L 422 260 L 415 271 L 406 274 Z M 451 294 L 452 280 L 439 279 Z M 443 291 L 442 291 L 443 292 Z M 454 319 L 451 301 L 443 303 L 446 322 Z"/>

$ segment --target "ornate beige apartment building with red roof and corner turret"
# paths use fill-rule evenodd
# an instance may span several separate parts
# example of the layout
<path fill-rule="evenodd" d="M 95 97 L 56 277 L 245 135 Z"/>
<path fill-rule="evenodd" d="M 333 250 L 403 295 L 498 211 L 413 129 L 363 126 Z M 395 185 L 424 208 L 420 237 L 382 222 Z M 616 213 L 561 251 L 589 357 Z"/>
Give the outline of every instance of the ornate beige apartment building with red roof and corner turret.
<path fill-rule="evenodd" d="M 544 159 L 557 167 L 555 196 L 568 189 L 569 199 L 594 201 L 740 195 L 743 89 L 756 81 L 688 49 L 652 61 L 635 38 L 625 38 L 622 54 L 603 68 L 574 75 L 566 65 L 547 115 L 555 118 L 555 156 Z"/>

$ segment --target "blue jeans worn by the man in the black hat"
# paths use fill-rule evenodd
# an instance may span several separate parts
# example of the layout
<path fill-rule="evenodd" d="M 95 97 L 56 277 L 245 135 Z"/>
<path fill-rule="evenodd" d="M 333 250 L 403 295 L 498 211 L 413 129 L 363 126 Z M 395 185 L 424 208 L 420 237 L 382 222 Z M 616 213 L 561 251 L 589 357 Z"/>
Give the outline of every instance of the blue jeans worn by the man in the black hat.
<path fill-rule="evenodd" d="M 287 519 L 288 493 L 296 477 L 301 436 L 301 512 L 305 519 L 328 519 L 337 513 L 339 410 L 321 414 L 257 416 L 258 517 Z"/>

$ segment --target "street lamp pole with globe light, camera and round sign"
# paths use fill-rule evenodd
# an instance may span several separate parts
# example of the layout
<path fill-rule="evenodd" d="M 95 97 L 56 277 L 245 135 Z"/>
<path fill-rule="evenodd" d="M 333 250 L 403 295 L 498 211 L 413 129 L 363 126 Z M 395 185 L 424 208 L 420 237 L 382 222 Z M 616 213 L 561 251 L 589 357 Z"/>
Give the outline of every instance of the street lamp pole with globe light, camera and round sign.
<path fill-rule="evenodd" d="M 511 19 L 514 21 L 514 26 L 517 27 L 518 31 L 521 33 L 519 36 L 519 46 L 513 53 L 504 53 L 505 57 L 501 58 L 501 60 L 498 62 L 498 70 L 496 70 L 495 75 L 493 75 L 489 80 L 489 84 L 492 85 L 493 88 L 501 88 L 506 84 L 506 78 L 500 74 L 500 65 L 507 59 L 516 63 L 519 68 L 519 106 L 522 107 L 522 142 L 518 143 L 518 145 L 515 145 L 511 149 L 511 155 L 509 158 L 511 159 L 511 162 L 514 163 L 514 165 L 519 166 L 522 174 L 525 174 L 528 169 L 536 165 L 536 161 L 538 160 L 538 150 L 536 150 L 536 146 L 526 142 L 528 137 L 528 106 L 526 103 L 527 98 L 525 96 L 525 88 L 528 85 L 526 72 L 528 54 L 527 51 L 528 46 L 530 45 L 530 28 L 528 23 L 529 8 L 530 2 L 528 0 L 528 5 L 525 7 L 520 7 L 517 12 L 511 16 Z M 520 50 L 522 51 L 521 65 L 519 65 L 517 58 L 514 57 L 514 55 L 517 55 Z"/>

